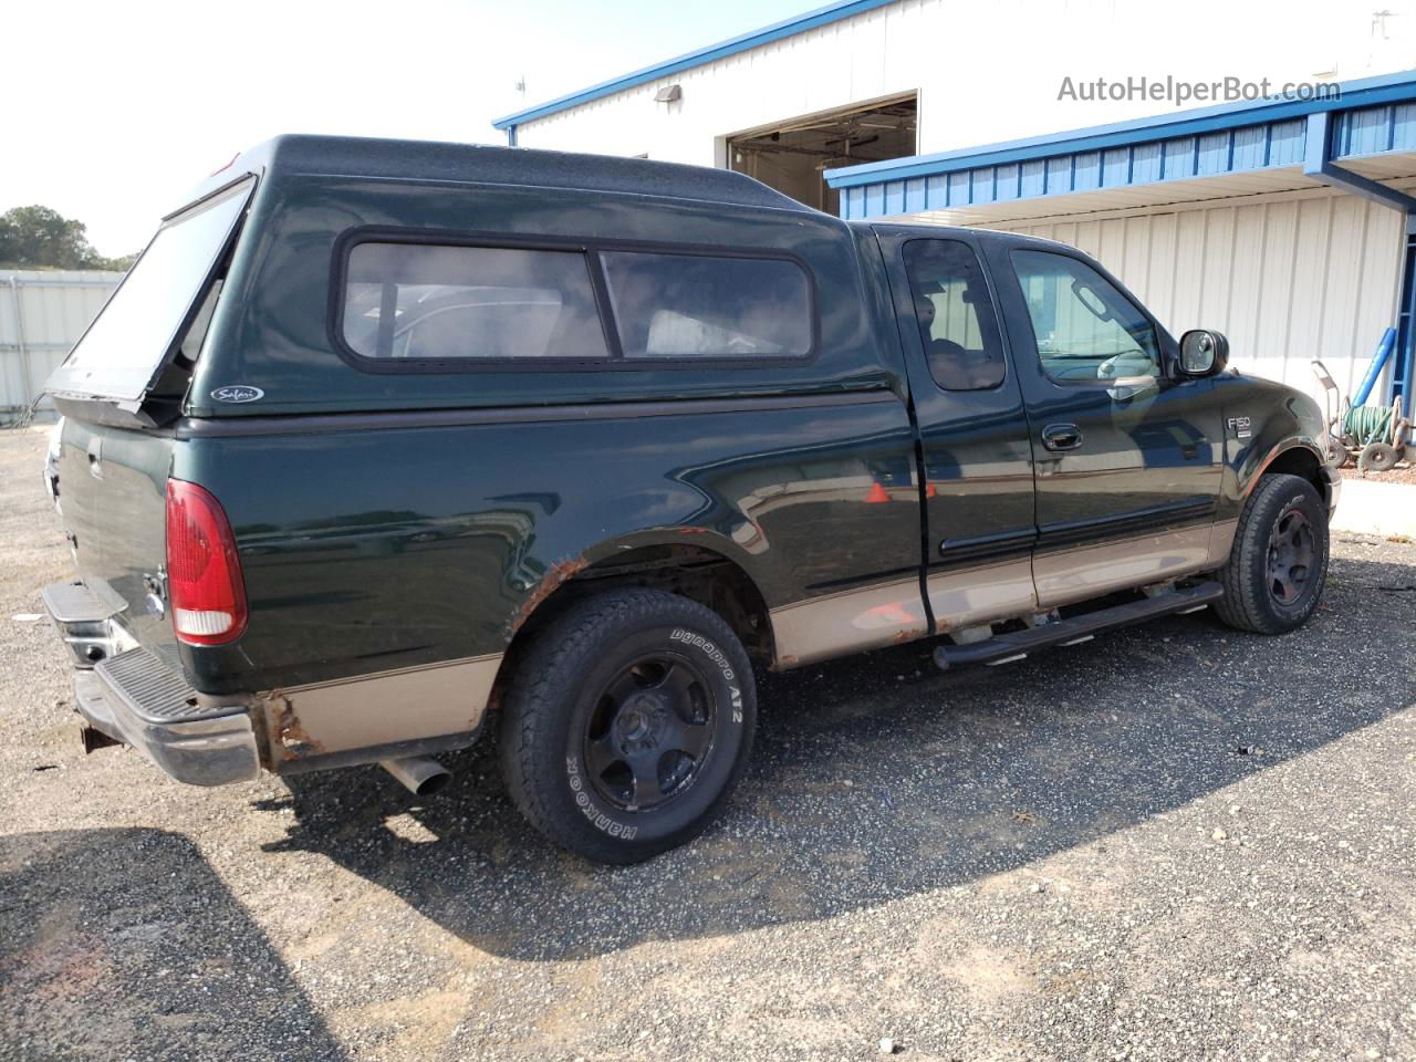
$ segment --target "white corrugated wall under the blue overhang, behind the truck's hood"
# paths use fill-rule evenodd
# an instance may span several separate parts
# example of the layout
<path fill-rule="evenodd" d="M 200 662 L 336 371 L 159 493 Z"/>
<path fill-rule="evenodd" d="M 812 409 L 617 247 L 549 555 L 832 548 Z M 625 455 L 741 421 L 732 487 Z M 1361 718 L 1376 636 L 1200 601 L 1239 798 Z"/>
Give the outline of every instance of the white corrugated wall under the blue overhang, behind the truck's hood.
<path fill-rule="evenodd" d="M 1396 323 L 1403 219 L 1357 195 L 1287 193 L 997 228 L 1086 251 L 1177 337 L 1218 329 L 1242 371 L 1314 396 L 1311 358 L 1351 394 Z"/>

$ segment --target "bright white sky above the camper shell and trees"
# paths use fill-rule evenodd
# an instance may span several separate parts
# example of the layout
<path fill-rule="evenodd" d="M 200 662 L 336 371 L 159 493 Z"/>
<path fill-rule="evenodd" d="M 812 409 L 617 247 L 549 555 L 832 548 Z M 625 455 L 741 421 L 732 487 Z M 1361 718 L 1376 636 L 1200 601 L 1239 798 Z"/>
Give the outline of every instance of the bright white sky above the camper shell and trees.
<path fill-rule="evenodd" d="M 44 204 L 130 253 L 278 133 L 504 143 L 493 118 L 821 3 L 14 0 L 0 212 Z"/>

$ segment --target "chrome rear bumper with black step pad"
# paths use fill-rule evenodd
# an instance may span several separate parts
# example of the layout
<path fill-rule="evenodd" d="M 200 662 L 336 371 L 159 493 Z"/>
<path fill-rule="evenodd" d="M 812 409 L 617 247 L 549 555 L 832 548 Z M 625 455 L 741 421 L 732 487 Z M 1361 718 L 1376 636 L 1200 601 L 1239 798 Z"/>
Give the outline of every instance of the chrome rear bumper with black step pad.
<path fill-rule="evenodd" d="M 85 722 L 178 782 L 222 786 L 259 775 L 248 708 L 212 704 L 154 653 L 125 647 L 112 615 L 99 617 L 103 605 L 96 598 L 85 603 L 82 589 L 55 583 L 45 588 L 44 603 L 74 651 L 75 704 Z"/>

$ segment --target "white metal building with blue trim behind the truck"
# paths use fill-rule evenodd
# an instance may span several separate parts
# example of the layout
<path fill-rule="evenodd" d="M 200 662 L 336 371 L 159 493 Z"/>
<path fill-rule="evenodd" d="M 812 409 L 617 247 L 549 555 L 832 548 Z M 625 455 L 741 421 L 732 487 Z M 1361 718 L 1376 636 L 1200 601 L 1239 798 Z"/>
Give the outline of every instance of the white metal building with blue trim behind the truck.
<path fill-rule="evenodd" d="M 844 218 L 1075 244 L 1175 334 L 1219 329 L 1239 368 L 1314 394 L 1311 358 L 1352 391 L 1399 327 L 1376 395 L 1409 409 L 1416 4 L 1286 11 L 845 0 L 494 125 L 527 147 L 741 170 Z M 1188 68 L 1140 82 L 1147 50 L 1117 54 L 1133 40 Z M 1131 91 L 1079 102 L 1102 74 Z M 1195 109 L 1178 74 L 1264 92 Z"/>

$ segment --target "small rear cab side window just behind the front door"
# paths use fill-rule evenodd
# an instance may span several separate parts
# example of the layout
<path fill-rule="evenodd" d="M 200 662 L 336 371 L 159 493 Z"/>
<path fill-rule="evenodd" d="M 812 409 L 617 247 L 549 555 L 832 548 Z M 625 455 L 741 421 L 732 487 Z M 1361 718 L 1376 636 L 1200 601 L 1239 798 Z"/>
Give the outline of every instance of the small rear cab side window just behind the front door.
<path fill-rule="evenodd" d="M 905 273 L 935 382 L 946 391 L 998 387 L 1003 338 L 973 248 L 957 239 L 912 239 L 905 244 Z"/>

